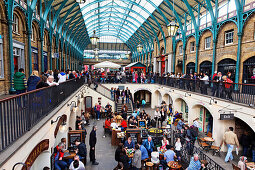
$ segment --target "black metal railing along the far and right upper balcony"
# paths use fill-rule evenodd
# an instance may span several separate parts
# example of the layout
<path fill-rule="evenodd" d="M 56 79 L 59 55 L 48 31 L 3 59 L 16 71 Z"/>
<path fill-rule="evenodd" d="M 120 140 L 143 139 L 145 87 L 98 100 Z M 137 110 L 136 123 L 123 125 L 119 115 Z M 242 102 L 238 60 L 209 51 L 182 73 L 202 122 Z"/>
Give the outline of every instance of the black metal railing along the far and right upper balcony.
<path fill-rule="evenodd" d="M 114 75 L 106 77 L 105 83 L 136 83 L 132 75 L 127 75 L 125 81 L 117 80 Z M 141 83 L 138 81 L 138 83 Z M 237 103 L 255 106 L 255 84 L 224 83 L 204 81 L 200 79 L 171 78 L 146 76 L 146 84 L 160 84 L 181 90 L 200 93 L 210 97 L 231 100 Z"/>

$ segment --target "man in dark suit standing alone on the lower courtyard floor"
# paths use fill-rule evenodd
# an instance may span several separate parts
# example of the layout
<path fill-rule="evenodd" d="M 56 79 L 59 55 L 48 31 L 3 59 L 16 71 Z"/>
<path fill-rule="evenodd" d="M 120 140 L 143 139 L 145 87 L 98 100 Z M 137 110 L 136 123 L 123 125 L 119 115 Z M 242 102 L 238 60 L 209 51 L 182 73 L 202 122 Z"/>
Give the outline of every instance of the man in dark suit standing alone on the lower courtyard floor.
<path fill-rule="evenodd" d="M 99 164 L 98 162 L 96 162 L 96 158 L 95 158 L 95 147 L 97 143 L 96 130 L 97 130 L 97 126 L 93 126 L 93 129 L 89 135 L 89 146 L 90 146 L 89 156 L 90 156 L 90 161 L 92 162 L 92 165 Z"/>

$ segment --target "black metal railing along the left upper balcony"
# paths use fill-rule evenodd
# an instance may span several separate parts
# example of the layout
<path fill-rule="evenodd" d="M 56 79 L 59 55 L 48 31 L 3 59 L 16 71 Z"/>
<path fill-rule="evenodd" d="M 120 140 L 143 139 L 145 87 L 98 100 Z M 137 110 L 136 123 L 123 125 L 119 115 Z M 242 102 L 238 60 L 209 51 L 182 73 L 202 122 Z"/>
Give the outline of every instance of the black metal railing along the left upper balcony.
<path fill-rule="evenodd" d="M 68 80 L 0 100 L 0 152 L 84 85 L 84 78 Z"/>

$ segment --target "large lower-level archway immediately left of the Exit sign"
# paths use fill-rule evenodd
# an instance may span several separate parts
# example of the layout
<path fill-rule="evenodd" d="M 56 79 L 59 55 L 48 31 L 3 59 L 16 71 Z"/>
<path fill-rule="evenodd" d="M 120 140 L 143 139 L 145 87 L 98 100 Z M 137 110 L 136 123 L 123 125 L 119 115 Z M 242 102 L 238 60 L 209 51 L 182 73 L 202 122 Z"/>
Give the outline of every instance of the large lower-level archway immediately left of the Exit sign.
<path fill-rule="evenodd" d="M 192 114 L 189 117 L 191 124 L 198 118 L 199 131 L 204 133 L 210 132 L 212 134 L 213 116 L 210 111 L 202 105 L 195 105 L 191 108 L 191 112 Z"/>

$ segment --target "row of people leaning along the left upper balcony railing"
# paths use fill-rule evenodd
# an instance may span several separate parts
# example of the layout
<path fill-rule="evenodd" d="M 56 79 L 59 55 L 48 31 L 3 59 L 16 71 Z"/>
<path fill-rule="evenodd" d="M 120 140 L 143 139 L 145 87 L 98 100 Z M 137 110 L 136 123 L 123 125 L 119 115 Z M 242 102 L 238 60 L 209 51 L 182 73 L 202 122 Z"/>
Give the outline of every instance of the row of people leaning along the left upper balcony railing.
<path fill-rule="evenodd" d="M 84 76 L 84 71 L 71 71 L 66 72 L 55 70 L 48 70 L 39 75 L 37 70 L 33 70 L 31 75 L 26 78 L 25 70 L 20 68 L 13 76 L 12 84 L 16 94 L 21 94 L 43 87 L 49 87 L 53 85 L 59 85 L 67 80 Z"/>

